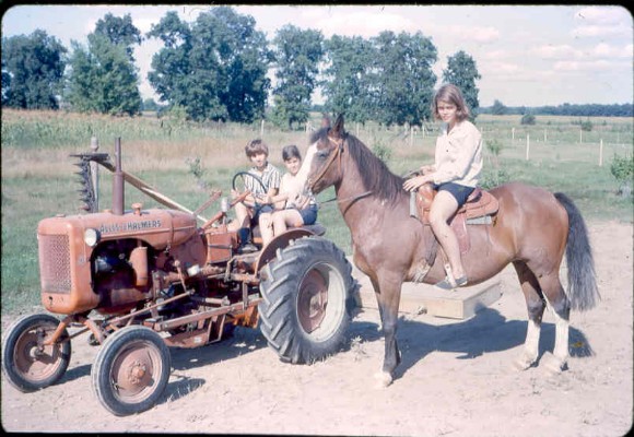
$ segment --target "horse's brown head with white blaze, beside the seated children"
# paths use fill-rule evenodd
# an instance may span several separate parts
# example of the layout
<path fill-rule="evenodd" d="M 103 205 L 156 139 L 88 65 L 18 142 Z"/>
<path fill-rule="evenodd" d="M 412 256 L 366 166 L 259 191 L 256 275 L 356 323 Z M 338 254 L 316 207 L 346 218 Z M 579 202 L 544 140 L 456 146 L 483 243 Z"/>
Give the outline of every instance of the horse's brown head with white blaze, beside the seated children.
<path fill-rule="evenodd" d="M 316 152 L 308 173 L 307 187 L 315 194 L 341 179 L 341 154 L 347 137 L 342 114 L 337 117 L 334 127 L 330 127 L 328 120 L 313 135 L 312 147 L 316 147 Z"/>

